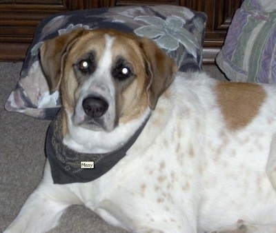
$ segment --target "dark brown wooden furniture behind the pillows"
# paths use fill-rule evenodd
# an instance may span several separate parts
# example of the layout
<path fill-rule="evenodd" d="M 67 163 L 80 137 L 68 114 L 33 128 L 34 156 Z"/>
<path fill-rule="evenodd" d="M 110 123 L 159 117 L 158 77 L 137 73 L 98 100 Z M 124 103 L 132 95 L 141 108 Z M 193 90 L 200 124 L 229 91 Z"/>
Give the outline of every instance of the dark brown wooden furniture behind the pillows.
<path fill-rule="evenodd" d="M 214 63 L 230 21 L 242 0 L 0 0 L 0 61 L 22 61 L 44 17 L 68 10 L 171 4 L 206 12 L 204 63 Z"/>

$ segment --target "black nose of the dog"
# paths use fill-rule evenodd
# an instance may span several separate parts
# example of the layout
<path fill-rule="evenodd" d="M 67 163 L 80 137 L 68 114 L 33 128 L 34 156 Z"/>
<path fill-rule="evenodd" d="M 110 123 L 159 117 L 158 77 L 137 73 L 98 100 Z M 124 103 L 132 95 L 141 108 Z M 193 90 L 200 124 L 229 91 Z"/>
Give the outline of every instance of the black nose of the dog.
<path fill-rule="evenodd" d="M 83 99 L 82 108 L 86 115 L 92 118 L 103 116 L 108 110 L 108 103 L 99 97 L 88 97 Z"/>

